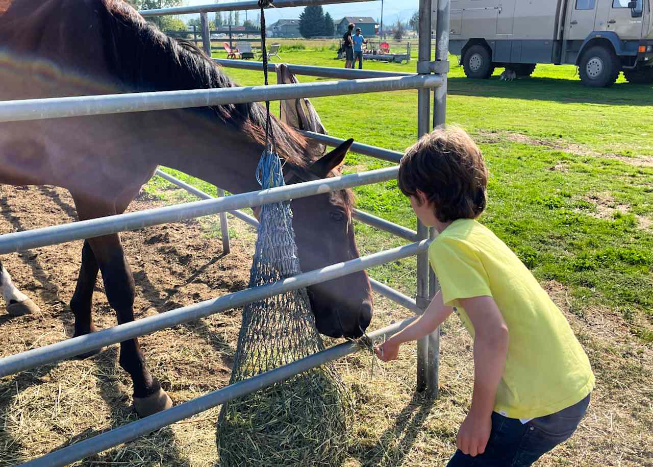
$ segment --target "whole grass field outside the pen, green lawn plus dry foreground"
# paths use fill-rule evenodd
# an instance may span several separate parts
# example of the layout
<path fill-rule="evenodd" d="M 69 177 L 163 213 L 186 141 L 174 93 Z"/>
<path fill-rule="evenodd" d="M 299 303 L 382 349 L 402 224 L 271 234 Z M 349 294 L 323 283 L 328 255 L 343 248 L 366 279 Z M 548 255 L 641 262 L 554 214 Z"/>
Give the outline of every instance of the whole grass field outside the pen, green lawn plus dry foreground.
<path fill-rule="evenodd" d="M 287 63 L 341 67 L 334 56 L 328 48 L 281 50 Z M 414 72 L 415 61 L 365 67 Z M 538 65 L 532 78 L 510 83 L 498 80 L 500 71 L 468 80 L 451 57 L 447 122 L 464 127 L 485 154 L 489 203 L 481 221 L 567 315 L 597 376 L 577 433 L 537 465 L 653 466 L 653 86 L 621 77 L 612 88 L 589 89 L 569 66 Z M 263 83 L 260 72 L 226 72 L 242 85 Z M 399 151 L 417 137 L 416 91 L 311 101 L 330 135 Z M 345 172 L 387 165 L 356 153 L 345 163 Z M 153 180 L 149 189 L 159 187 Z M 396 182 L 355 191 L 359 208 L 415 228 Z M 402 243 L 366 225 L 356 229 L 361 254 Z M 234 234 L 251 238 L 251 231 Z M 415 259 L 370 274 L 414 294 Z M 404 315 L 381 300 L 373 327 Z M 445 464 L 470 402 L 471 344 L 456 319 L 445 323 L 434 402 L 414 393 L 414 346 L 374 374 L 370 356 L 345 359 L 341 369 L 357 399 L 347 465 Z"/>

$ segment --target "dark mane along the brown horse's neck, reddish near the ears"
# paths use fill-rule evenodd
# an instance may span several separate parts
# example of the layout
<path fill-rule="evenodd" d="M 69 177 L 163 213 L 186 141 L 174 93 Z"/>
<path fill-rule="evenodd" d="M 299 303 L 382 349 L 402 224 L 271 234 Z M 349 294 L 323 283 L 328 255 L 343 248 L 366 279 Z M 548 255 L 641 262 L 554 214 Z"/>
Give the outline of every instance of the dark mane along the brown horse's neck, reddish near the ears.
<path fill-rule="evenodd" d="M 109 13 L 106 61 L 121 85 L 136 92 L 237 86 L 195 44 L 168 37 L 120 0 L 101 0 Z M 196 109 L 211 112 L 227 127 L 265 144 L 265 108 L 259 103 L 229 104 Z M 313 161 L 307 138 L 272 115 L 272 131 L 279 155 L 298 167 Z"/>

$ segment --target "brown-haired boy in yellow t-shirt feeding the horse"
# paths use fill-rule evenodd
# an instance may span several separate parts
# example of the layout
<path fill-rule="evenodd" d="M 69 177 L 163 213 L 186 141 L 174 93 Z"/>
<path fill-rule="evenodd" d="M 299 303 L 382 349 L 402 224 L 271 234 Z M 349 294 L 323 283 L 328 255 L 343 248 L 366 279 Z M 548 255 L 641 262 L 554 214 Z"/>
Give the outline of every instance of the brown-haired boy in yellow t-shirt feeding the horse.
<path fill-rule="evenodd" d="M 399 188 L 439 234 L 428 248 L 440 291 L 424 314 L 375 351 L 430 334 L 452 313 L 474 339 L 471 408 L 449 467 L 530 466 L 576 430 L 594 374 L 567 320 L 530 271 L 475 221 L 487 171 L 462 129 L 439 128 L 402 157 Z"/>

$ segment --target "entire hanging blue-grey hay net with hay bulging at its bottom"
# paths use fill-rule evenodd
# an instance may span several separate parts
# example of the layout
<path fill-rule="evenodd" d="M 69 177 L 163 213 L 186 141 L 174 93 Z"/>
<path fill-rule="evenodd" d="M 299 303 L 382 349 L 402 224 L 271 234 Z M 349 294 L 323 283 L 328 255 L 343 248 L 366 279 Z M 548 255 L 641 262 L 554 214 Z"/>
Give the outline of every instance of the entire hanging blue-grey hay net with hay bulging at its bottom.
<path fill-rule="evenodd" d="M 279 157 L 261 157 L 257 179 L 283 185 Z M 289 202 L 261 208 L 249 287 L 299 274 Z M 243 311 L 230 384 L 324 349 L 306 289 L 254 302 Z M 222 406 L 219 465 L 337 466 L 351 428 L 349 395 L 332 364 L 313 368 Z"/>

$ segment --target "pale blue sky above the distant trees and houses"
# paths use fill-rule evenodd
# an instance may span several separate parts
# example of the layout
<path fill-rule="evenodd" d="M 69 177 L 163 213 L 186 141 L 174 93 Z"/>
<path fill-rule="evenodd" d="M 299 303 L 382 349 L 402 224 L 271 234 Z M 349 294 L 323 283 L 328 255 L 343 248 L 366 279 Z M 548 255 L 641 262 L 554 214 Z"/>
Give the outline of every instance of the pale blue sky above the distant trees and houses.
<path fill-rule="evenodd" d="M 211 0 L 186 0 L 184 3 L 185 5 L 206 5 L 207 3 L 213 2 Z M 397 18 L 400 18 L 402 21 L 409 20 L 413 13 L 417 11 L 417 5 L 418 0 L 383 0 L 383 24 L 396 22 Z M 381 1 L 378 0 L 324 5 L 323 8 L 334 20 L 338 20 L 343 16 L 372 16 L 375 19 L 381 18 Z M 296 19 L 299 18 L 302 10 L 304 10 L 303 7 L 271 8 L 266 10 L 265 19 L 268 24 L 280 19 Z M 251 20 L 255 20 L 256 15 L 257 12 L 254 10 L 247 12 L 247 16 Z M 192 18 L 193 16 L 188 17 Z"/>

